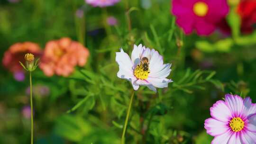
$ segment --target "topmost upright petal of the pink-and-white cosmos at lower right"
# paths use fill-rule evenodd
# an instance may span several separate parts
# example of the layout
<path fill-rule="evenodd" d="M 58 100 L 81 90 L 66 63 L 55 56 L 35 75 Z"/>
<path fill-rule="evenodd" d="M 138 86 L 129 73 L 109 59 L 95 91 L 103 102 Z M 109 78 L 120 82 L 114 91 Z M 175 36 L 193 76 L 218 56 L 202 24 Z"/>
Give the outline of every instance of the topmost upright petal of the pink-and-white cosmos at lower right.
<path fill-rule="evenodd" d="M 241 97 L 239 97 L 238 95 L 233 96 L 230 94 L 226 94 L 225 101 L 227 103 L 227 106 L 231 110 L 233 117 L 241 117 L 242 116 L 244 102 Z"/>

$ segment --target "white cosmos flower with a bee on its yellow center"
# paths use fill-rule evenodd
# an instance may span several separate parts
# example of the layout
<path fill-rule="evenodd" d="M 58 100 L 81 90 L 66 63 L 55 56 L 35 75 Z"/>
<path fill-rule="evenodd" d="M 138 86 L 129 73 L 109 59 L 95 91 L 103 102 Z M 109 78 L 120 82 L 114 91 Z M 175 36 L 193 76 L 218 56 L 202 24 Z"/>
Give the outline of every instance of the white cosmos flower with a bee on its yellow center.
<path fill-rule="evenodd" d="M 147 86 L 156 92 L 156 88 L 168 87 L 172 80 L 166 79 L 171 72 L 171 64 L 164 64 L 163 56 L 155 49 L 134 45 L 131 59 L 127 53 L 120 49 L 116 53 L 116 62 L 119 64 L 117 76 L 131 81 L 133 89 L 138 90 L 140 85 Z M 142 58 L 148 59 L 148 69 L 145 69 Z"/>

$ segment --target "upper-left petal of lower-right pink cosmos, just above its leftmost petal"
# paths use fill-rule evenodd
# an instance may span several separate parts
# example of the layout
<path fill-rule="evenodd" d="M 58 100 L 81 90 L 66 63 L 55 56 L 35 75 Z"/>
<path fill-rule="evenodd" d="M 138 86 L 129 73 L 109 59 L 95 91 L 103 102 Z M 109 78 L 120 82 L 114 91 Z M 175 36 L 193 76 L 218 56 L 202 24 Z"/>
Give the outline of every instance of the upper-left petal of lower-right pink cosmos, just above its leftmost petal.
<path fill-rule="evenodd" d="M 227 122 L 232 117 L 231 111 L 223 100 L 218 100 L 210 108 L 210 116 L 222 122 Z"/>

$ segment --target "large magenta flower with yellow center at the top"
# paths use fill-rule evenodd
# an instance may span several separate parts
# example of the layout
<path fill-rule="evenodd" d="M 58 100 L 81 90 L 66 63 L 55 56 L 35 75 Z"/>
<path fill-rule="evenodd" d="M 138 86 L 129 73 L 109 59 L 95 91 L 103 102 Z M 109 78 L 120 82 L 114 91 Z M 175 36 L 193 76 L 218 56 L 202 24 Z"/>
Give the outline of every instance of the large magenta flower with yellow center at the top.
<path fill-rule="evenodd" d="M 173 0 L 172 13 L 185 34 L 210 35 L 229 12 L 227 0 Z"/>

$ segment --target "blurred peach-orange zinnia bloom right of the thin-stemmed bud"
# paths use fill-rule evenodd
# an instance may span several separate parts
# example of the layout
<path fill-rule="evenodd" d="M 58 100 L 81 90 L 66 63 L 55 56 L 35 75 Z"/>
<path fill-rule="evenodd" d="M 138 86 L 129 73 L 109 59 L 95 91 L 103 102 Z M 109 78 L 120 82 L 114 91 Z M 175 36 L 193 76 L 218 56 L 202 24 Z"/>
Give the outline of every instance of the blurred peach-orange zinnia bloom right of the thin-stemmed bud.
<path fill-rule="evenodd" d="M 64 37 L 46 44 L 39 67 L 47 76 L 54 74 L 68 76 L 74 71 L 76 65 L 83 66 L 88 56 L 87 48 Z"/>

